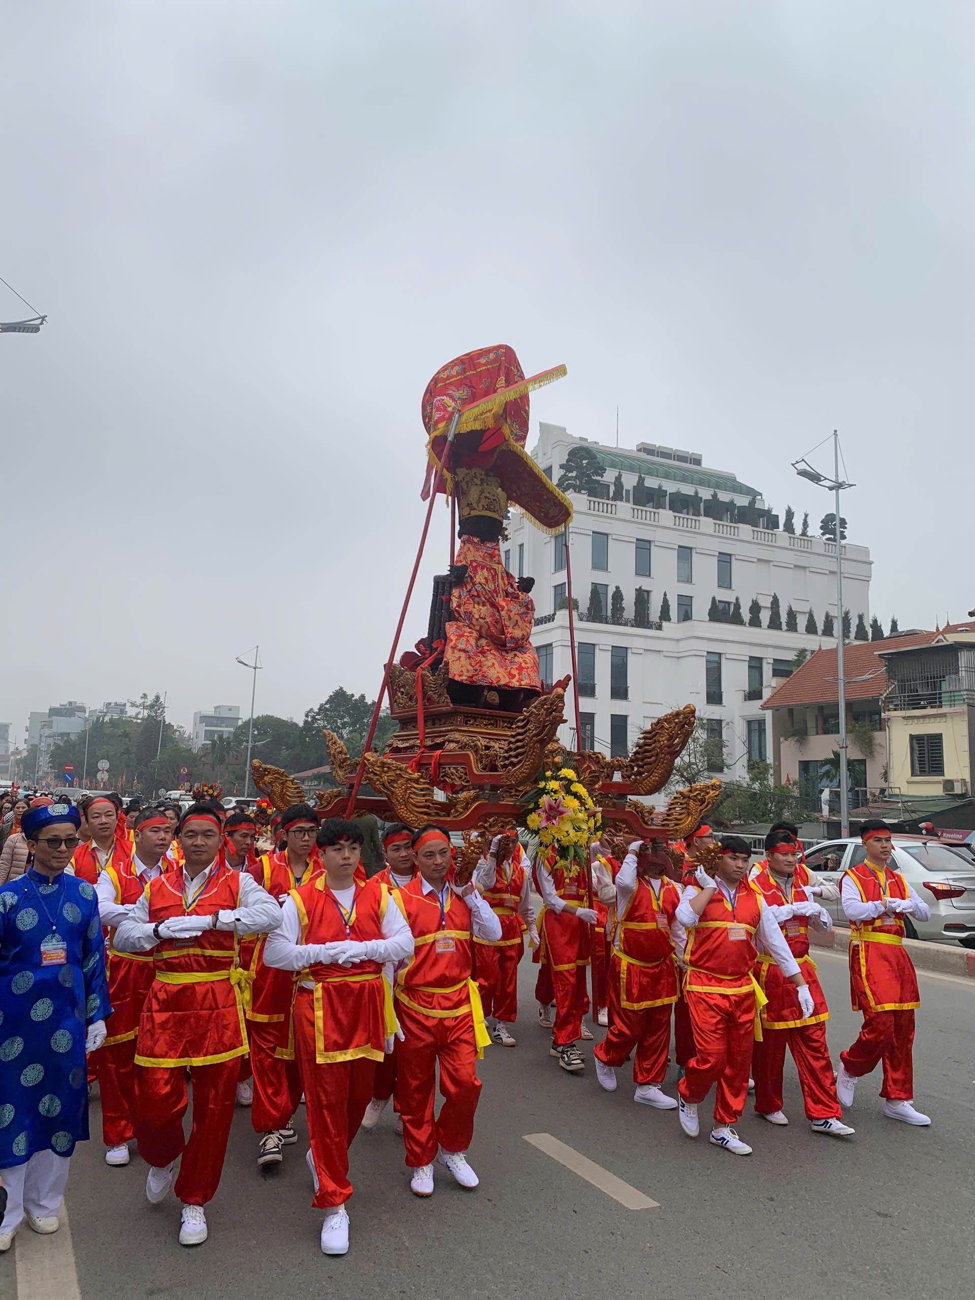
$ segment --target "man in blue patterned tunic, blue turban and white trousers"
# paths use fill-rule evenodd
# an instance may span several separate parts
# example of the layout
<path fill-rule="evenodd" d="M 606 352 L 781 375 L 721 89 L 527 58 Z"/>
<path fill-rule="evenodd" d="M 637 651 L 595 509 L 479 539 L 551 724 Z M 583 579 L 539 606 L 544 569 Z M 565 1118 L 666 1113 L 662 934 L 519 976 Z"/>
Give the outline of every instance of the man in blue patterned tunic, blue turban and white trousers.
<path fill-rule="evenodd" d="M 112 1008 L 95 890 L 65 874 L 79 823 L 70 803 L 29 809 L 31 864 L 0 890 L 0 1251 L 25 1214 L 57 1231 L 74 1144 L 88 1138 L 84 1057 Z"/>

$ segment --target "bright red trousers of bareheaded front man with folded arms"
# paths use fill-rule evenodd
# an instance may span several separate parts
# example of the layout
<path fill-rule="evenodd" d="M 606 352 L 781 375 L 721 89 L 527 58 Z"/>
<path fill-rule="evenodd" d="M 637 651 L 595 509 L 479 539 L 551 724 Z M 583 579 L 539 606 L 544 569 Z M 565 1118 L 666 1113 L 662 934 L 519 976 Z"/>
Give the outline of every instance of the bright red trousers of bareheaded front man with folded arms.
<path fill-rule="evenodd" d="M 315 1005 L 304 989 L 295 998 L 295 1056 L 304 1079 L 304 1112 L 315 1162 L 317 1209 L 344 1205 L 352 1195 L 348 1148 L 359 1132 L 373 1089 L 376 1062 L 368 1057 L 318 1065 Z"/>

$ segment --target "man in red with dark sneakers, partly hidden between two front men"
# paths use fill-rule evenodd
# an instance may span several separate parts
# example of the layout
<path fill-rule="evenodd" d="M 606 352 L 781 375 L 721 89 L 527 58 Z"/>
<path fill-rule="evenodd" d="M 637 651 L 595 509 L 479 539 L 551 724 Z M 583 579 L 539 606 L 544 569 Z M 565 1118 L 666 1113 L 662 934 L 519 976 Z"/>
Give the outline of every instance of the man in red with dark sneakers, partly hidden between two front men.
<path fill-rule="evenodd" d="M 318 816 L 308 803 L 294 803 L 281 814 L 285 848 L 265 853 L 257 879 L 268 893 L 283 904 L 292 889 L 307 884 L 322 870 L 315 844 Z M 268 967 L 264 942 L 254 946 L 248 970 L 254 975 L 247 1032 L 251 1044 L 254 1091 L 251 1124 L 259 1135 L 257 1167 L 280 1165 L 283 1148 L 298 1141 L 291 1122 L 302 1101 L 302 1074 L 291 1045 L 291 1001 L 294 978 L 290 971 Z"/>

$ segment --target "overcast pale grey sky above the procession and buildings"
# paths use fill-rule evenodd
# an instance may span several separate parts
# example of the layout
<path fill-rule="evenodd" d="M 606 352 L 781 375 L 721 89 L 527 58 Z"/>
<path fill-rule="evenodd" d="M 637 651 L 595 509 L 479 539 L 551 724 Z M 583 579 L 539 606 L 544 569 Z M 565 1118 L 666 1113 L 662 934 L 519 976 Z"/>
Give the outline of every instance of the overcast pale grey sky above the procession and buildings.
<path fill-rule="evenodd" d="M 611 442 L 619 404 L 621 446 L 814 525 L 789 462 L 838 426 L 871 612 L 963 616 L 974 29 L 968 0 L 8 0 L 0 276 L 49 322 L 0 337 L 0 719 L 246 714 L 255 642 L 259 712 L 373 698 L 422 390 L 499 342 L 568 365 L 529 445 Z"/>

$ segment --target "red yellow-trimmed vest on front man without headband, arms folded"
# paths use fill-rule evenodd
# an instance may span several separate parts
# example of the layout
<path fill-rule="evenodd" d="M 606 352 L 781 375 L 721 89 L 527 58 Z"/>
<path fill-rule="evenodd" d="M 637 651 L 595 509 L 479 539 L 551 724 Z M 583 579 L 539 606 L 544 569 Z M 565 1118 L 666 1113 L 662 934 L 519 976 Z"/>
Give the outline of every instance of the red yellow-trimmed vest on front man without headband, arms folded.
<path fill-rule="evenodd" d="M 382 939 L 382 920 L 390 906 L 389 888 L 373 878 L 355 881 L 355 900 L 348 920 L 325 883 L 324 872 L 291 890 L 302 922 L 302 944 L 368 942 Z M 355 966 L 312 966 L 307 978 L 315 989 L 298 989 L 299 998 L 312 998 L 315 1008 L 315 1060 L 318 1065 L 365 1057 L 382 1061 L 386 1041 L 386 992 L 380 962 Z"/>

